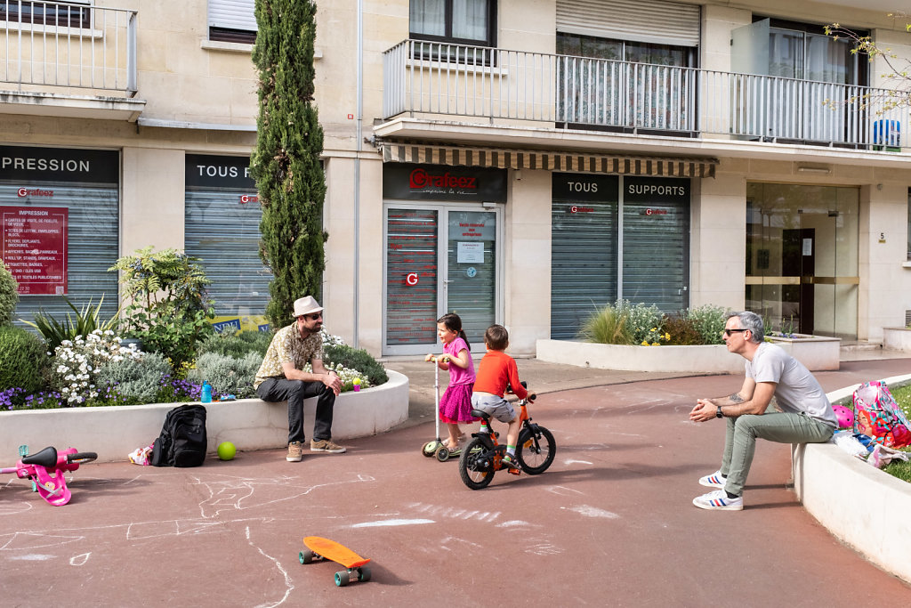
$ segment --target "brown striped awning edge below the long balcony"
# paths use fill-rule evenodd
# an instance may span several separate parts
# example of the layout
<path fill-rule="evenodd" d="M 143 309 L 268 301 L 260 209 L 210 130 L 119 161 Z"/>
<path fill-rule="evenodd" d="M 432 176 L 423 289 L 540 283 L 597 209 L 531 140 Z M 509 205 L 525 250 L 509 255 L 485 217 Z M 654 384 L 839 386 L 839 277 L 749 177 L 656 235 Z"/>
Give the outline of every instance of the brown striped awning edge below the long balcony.
<path fill-rule="evenodd" d="M 582 154 L 539 149 L 466 148 L 437 144 L 377 141 L 384 162 L 415 162 L 496 169 L 579 171 L 619 175 L 713 178 L 717 159 Z"/>

